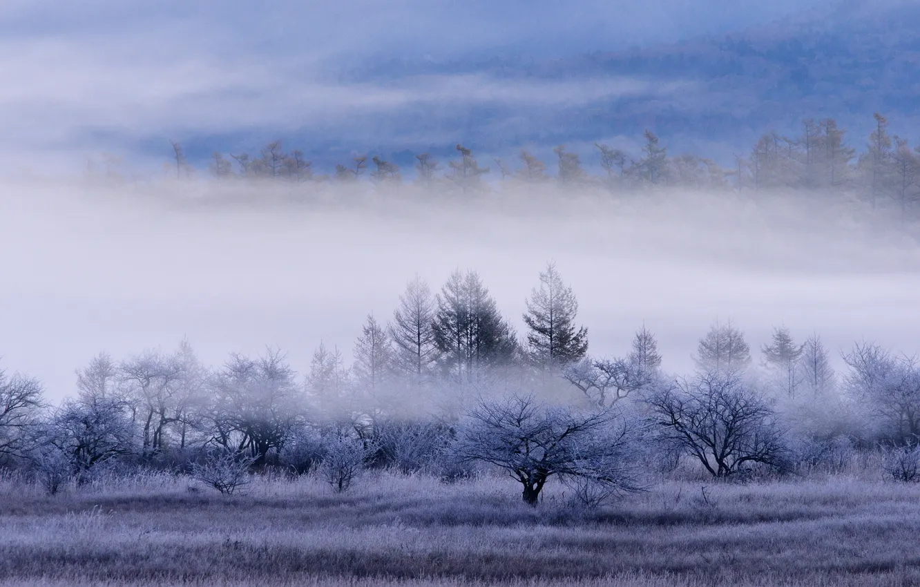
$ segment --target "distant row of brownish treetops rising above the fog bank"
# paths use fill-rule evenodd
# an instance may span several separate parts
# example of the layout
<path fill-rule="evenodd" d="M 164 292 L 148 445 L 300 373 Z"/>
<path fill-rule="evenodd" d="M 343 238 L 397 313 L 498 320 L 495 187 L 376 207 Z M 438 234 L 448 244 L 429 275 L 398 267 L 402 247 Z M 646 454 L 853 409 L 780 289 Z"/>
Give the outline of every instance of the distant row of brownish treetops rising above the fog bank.
<path fill-rule="evenodd" d="M 178 143 L 167 173 L 179 178 L 194 169 Z M 560 145 L 551 162 L 522 150 L 515 161 L 493 159 L 481 165 L 470 148 L 456 145 L 455 159 L 440 162 L 428 153 L 416 155 L 414 183 L 425 188 L 463 192 L 487 190 L 486 178 L 523 185 L 554 182 L 564 186 L 595 186 L 612 191 L 655 187 L 706 190 L 830 190 L 857 197 L 873 207 L 914 213 L 920 201 L 920 152 L 907 138 L 891 132 L 876 114 L 873 131 L 850 141 L 834 119 L 801 122 L 799 132 L 765 133 L 746 155 L 735 155 L 730 167 L 703 155 L 670 155 L 667 146 L 647 131 L 637 153 L 595 144 L 594 152 L 574 153 Z M 445 163 L 445 164 L 444 164 Z M 600 175 L 589 168 L 600 169 Z M 555 171 L 553 173 L 552 170 Z M 367 178 L 378 187 L 403 183 L 403 170 L 378 155 L 358 155 L 336 165 L 332 174 L 318 173 L 302 151 L 287 151 L 275 141 L 258 154 L 213 154 L 209 173 L 215 178 L 267 178 L 298 184 L 354 183 Z M 494 181 L 492 182 L 494 183 Z"/>

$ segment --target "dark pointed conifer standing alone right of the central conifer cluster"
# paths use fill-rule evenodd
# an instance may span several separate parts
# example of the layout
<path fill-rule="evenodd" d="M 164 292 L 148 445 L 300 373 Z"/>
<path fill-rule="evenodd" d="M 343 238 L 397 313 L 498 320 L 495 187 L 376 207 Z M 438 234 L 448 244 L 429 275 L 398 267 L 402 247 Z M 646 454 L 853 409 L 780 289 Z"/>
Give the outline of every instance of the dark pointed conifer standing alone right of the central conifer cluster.
<path fill-rule="evenodd" d="M 556 265 L 540 272 L 540 286 L 527 300 L 523 322 L 527 326 L 527 352 L 545 371 L 577 363 L 588 352 L 588 329 L 577 327 L 578 299 L 562 281 Z"/>

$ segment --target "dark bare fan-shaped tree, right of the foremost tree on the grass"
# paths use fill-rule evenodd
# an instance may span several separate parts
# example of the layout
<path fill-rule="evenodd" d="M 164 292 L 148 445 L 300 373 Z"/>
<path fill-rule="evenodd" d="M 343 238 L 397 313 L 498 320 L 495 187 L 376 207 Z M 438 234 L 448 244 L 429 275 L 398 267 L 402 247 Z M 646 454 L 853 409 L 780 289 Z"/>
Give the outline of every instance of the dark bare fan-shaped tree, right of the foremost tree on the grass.
<path fill-rule="evenodd" d="M 646 401 L 665 440 L 696 457 L 713 477 L 753 463 L 786 464 L 784 432 L 773 409 L 739 374 L 696 374 L 662 386 Z"/>

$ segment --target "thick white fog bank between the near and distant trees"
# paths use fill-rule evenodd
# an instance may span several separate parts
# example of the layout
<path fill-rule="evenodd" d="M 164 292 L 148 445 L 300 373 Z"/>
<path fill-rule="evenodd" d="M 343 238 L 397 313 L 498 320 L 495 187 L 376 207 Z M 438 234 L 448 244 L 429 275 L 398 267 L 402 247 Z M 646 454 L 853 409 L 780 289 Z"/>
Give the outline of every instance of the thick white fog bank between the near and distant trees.
<path fill-rule="evenodd" d="M 548 260 L 578 295 L 595 355 L 627 351 L 644 323 L 664 368 L 687 371 L 717 318 L 753 349 L 785 325 L 832 350 L 920 351 L 915 228 L 816 199 L 7 180 L 0 355 L 55 398 L 98 351 L 182 337 L 205 363 L 271 345 L 305 372 L 320 341 L 348 362 L 365 317 L 388 320 L 416 274 L 437 291 L 451 271 L 477 270 L 520 333 Z"/>

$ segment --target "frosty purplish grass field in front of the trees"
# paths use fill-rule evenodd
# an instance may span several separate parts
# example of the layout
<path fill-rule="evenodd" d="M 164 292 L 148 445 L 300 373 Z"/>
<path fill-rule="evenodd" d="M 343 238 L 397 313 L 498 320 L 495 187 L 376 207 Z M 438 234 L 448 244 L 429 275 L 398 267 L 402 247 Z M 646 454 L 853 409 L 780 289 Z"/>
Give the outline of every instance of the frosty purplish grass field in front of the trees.
<path fill-rule="evenodd" d="M 371 473 L 341 495 L 316 478 L 259 478 L 232 497 L 164 474 L 54 497 L 8 477 L 0 583 L 920 584 L 915 485 L 671 480 L 593 511 L 547 489 L 534 509 L 491 477 Z"/>

